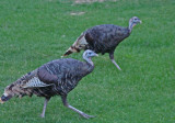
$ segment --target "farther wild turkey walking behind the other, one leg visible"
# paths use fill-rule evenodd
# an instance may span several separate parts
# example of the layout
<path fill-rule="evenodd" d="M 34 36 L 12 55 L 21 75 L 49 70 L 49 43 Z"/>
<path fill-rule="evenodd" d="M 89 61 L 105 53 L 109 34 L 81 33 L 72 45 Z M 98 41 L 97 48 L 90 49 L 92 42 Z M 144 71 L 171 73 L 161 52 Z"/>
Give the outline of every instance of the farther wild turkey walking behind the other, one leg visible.
<path fill-rule="evenodd" d="M 128 37 L 132 31 L 132 27 L 141 23 L 140 19 L 133 16 L 129 20 L 129 26 L 122 27 L 113 24 L 103 24 L 93 26 L 83 32 L 71 47 L 65 53 L 67 56 L 71 53 L 80 52 L 81 49 L 92 49 L 95 53 L 109 53 L 112 63 L 119 69 L 120 67 L 114 60 L 114 52 L 116 46 L 126 37 Z"/>

